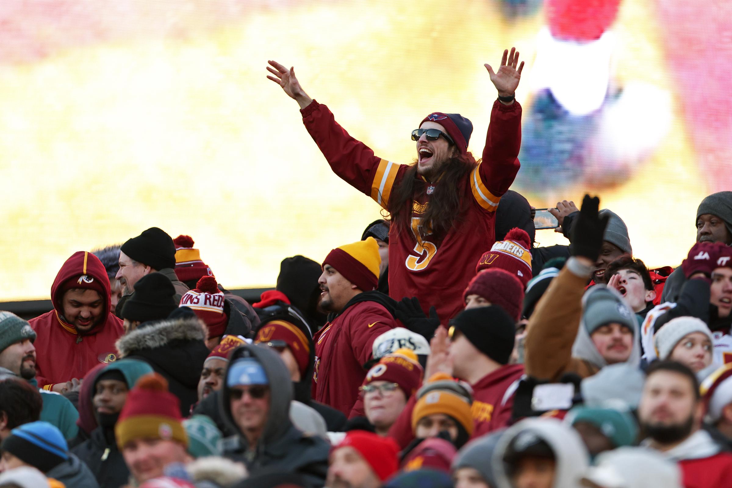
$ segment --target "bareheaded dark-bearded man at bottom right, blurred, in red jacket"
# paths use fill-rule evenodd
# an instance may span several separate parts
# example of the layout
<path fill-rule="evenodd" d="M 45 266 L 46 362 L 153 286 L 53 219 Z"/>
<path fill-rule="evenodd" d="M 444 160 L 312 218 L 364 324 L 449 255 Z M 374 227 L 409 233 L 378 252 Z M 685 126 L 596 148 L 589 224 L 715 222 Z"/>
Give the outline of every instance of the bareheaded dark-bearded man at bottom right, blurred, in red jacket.
<path fill-rule="evenodd" d="M 732 454 L 722 452 L 701 429 L 702 416 L 699 383 L 692 370 L 673 361 L 651 364 L 638 407 L 647 435 L 643 445 L 679 463 L 684 487 L 729 486 Z"/>

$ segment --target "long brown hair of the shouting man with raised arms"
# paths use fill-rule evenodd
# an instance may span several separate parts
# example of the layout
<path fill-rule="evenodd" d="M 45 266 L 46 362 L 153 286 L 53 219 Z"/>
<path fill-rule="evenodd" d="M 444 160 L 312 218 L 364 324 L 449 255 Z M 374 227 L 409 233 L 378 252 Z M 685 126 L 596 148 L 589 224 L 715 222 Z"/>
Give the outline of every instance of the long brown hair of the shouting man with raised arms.
<path fill-rule="evenodd" d="M 429 229 L 438 238 L 444 237 L 460 221 L 467 202 L 463 198 L 463 185 L 468 175 L 479 164 L 471 153 L 458 154 L 442 165 L 439 186 L 430 198 L 430 204 L 422 214 L 422 228 Z M 427 191 L 427 182 L 417 176 L 417 159 L 410 165 L 399 184 L 392 188 L 387 211 L 397 232 L 411 232 L 412 200 L 420 192 Z"/>

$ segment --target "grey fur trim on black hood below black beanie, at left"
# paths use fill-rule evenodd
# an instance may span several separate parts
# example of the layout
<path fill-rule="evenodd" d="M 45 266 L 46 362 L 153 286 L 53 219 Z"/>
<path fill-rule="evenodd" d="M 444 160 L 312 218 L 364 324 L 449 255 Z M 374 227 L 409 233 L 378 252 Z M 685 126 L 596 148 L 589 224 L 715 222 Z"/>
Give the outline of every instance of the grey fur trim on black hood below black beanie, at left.
<path fill-rule="evenodd" d="M 160 348 L 175 339 L 206 340 L 206 326 L 195 317 L 157 320 L 120 337 L 116 342 L 119 357 L 144 349 Z"/>

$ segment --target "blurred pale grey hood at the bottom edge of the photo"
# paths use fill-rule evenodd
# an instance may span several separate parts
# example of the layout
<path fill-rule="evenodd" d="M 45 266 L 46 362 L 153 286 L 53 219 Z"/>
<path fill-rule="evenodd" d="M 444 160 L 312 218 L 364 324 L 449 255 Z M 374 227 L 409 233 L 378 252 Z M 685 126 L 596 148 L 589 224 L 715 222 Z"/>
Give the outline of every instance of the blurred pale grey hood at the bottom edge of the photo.
<path fill-rule="evenodd" d="M 554 453 L 556 468 L 552 488 L 578 487 L 589 466 L 589 453 L 580 435 L 556 418 L 526 418 L 510 427 L 498 440 L 493 454 L 493 470 L 498 488 L 512 488 L 504 464 L 504 454 L 518 435 L 533 434 L 543 440 Z"/>

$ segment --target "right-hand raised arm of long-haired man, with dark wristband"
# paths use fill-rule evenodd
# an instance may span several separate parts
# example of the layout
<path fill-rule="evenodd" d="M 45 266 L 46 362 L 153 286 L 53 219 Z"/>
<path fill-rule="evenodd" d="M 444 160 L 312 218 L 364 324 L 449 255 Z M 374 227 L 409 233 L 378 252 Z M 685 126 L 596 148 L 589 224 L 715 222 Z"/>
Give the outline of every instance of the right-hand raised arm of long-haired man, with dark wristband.
<path fill-rule="evenodd" d="M 504 50 L 498 71 L 485 64 L 499 98 L 493 103 L 482 162 L 471 174 L 471 187 L 478 203 L 488 211 L 496 209 L 520 167 L 517 158 L 521 147 L 521 105 L 515 100 L 515 92 L 523 61 L 519 63 L 518 57 L 518 51 L 511 48 L 510 53 Z"/>

